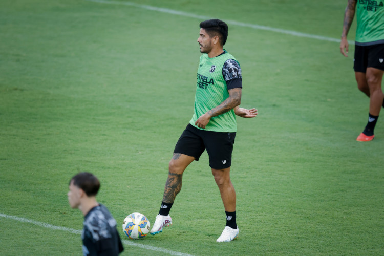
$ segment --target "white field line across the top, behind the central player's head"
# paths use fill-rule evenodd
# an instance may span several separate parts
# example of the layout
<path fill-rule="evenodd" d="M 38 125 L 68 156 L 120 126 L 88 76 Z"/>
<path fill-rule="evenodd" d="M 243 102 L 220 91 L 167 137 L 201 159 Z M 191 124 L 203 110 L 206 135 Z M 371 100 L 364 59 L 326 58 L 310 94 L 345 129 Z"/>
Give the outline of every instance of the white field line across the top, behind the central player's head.
<path fill-rule="evenodd" d="M 167 9 L 167 8 L 160 8 L 160 7 L 150 6 L 150 5 L 140 5 L 140 4 L 136 4 L 136 3 L 132 3 L 132 2 L 120 2 L 120 1 L 113 1 L 113 0 L 111 0 L 111 1 L 109 1 L 109 0 L 86 0 L 86 1 L 96 2 L 96 3 L 100 3 L 100 4 L 134 6 L 134 7 L 141 8 L 141 9 L 163 12 L 163 13 L 168 13 L 168 14 L 174 14 L 174 15 L 179 15 L 179 16 L 184 16 L 184 17 L 198 18 L 201 20 L 206 20 L 206 19 L 211 18 L 208 16 L 197 15 L 197 14 L 193 14 L 193 13 L 182 12 L 182 11 L 177 11 L 177 10 L 172 10 L 172 9 Z M 276 28 L 257 25 L 257 24 L 242 23 L 242 22 L 237 22 L 236 20 L 226 20 L 225 22 L 227 24 L 235 25 L 235 26 L 239 26 L 239 27 L 247 27 L 247 28 L 252 28 L 252 29 L 272 31 L 272 32 L 283 33 L 283 34 L 288 34 L 288 35 L 293 35 L 293 36 L 298 36 L 298 37 L 307 37 L 307 38 L 312 38 L 312 39 L 317 39 L 317 40 L 322 40 L 322 41 L 340 42 L 340 39 L 336 39 L 336 38 L 332 38 L 332 37 L 307 34 L 307 33 L 297 32 L 297 31 L 293 31 L 293 30 L 276 29 Z M 349 40 L 348 42 L 351 45 L 355 44 L 355 42 L 351 41 L 351 40 Z"/>

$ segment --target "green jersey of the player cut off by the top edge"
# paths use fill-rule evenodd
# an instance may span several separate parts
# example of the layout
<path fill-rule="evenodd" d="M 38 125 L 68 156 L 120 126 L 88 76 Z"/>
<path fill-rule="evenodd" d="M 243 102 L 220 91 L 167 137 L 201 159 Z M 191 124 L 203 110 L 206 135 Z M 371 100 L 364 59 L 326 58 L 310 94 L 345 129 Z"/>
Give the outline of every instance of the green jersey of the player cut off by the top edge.
<path fill-rule="evenodd" d="M 384 0 L 357 0 L 356 45 L 384 43 Z"/>

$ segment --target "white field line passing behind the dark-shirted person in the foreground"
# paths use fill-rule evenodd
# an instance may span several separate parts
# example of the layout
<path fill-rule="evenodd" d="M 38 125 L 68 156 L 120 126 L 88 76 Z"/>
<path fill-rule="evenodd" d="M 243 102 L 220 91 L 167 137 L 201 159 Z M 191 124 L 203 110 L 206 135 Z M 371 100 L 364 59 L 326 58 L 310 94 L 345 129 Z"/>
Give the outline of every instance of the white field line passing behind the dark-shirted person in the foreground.
<path fill-rule="evenodd" d="M 67 231 L 67 232 L 71 232 L 71 233 L 75 233 L 75 234 L 81 234 L 81 232 L 82 232 L 81 230 L 76 230 L 73 228 L 55 226 L 55 225 L 51 225 L 51 224 L 48 224 L 45 222 L 34 221 L 34 220 L 27 219 L 27 218 L 20 218 L 20 217 L 12 216 L 12 215 L 6 215 L 6 214 L 0 213 L 0 217 L 6 218 L 6 219 L 11 219 L 11 220 L 18 221 L 18 222 L 31 223 L 31 224 L 34 224 L 34 225 L 37 225 L 40 227 L 46 227 L 46 228 L 53 229 L 53 230 Z M 140 247 L 140 248 L 146 249 L 146 250 L 168 253 L 170 255 L 192 256 L 192 255 L 187 254 L 187 253 L 171 251 L 171 250 L 167 250 L 167 249 L 163 249 L 163 248 L 159 248 L 159 247 L 155 247 L 155 246 L 151 246 L 151 245 L 138 244 L 138 243 L 135 243 L 133 241 L 127 241 L 124 239 L 122 240 L 122 242 L 123 242 L 123 244 L 128 245 L 128 246 L 136 246 L 136 247 Z"/>

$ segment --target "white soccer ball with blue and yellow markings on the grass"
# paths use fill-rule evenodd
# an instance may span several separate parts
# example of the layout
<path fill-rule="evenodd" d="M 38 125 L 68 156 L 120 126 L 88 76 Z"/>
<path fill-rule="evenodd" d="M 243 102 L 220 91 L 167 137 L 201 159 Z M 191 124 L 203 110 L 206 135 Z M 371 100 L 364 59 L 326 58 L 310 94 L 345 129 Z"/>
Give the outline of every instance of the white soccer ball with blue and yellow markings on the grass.
<path fill-rule="evenodd" d="M 150 221 L 143 214 L 134 212 L 125 217 L 123 231 L 130 239 L 140 239 L 150 232 Z"/>

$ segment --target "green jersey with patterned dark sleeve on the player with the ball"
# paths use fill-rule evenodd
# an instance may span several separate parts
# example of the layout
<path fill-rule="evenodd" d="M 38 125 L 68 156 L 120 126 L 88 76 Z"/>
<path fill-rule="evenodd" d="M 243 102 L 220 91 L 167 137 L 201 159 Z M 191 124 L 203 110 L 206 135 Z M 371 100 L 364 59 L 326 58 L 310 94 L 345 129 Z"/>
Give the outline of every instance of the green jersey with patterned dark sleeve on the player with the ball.
<path fill-rule="evenodd" d="M 228 90 L 242 87 L 241 69 L 239 62 L 228 52 L 214 58 L 208 54 L 200 57 L 199 69 L 197 71 L 197 84 L 195 95 L 195 111 L 190 124 L 195 125 L 196 120 L 207 111 L 216 108 L 229 97 Z M 231 88 L 227 84 L 236 81 L 236 86 Z M 199 127 L 197 127 L 200 129 Z M 214 132 L 236 132 L 237 123 L 233 109 L 212 117 L 205 126 L 206 131 Z"/>

